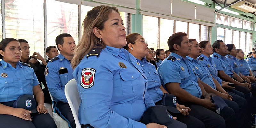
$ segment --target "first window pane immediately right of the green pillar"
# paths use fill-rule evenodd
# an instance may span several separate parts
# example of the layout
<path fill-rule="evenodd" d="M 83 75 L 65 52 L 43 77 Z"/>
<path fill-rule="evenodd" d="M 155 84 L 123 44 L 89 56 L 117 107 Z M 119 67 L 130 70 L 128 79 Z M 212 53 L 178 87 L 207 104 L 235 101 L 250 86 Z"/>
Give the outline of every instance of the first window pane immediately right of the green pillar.
<path fill-rule="evenodd" d="M 158 18 L 152 16 L 143 16 L 142 28 L 143 37 L 147 41 L 148 47 L 157 49 Z"/>

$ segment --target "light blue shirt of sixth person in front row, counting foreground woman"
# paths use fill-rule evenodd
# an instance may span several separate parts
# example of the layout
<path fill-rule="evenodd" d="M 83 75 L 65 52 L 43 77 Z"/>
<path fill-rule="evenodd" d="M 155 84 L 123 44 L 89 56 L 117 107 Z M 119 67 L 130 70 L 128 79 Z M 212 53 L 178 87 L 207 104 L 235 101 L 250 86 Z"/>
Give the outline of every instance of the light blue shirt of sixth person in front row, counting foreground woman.
<path fill-rule="evenodd" d="M 216 64 L 216 68 L 218 71 L 224 71 L 225 74 L 227 74 L 230 77 L 233 75 L 233 68 L 231 67 L 231 64 L 229 63 L 225 56 L 221 56 L 218 53 L 213 53 L 212 60 Z"/>

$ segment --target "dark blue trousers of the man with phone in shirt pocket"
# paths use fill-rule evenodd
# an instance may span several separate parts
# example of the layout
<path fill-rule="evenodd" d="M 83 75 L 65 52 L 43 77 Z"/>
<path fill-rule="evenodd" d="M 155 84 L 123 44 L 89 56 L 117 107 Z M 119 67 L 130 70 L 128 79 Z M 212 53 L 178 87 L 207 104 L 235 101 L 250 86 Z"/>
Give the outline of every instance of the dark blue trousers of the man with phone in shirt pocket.
<path fill-rule="evenodd" d="M 54 108 L 56 110 L 56 113 L 68 122 L 69 127 L 76 128 L 75 120 L 68 103 L 63 103 L 61 101 L 58 101 L 55 103 Z"/>

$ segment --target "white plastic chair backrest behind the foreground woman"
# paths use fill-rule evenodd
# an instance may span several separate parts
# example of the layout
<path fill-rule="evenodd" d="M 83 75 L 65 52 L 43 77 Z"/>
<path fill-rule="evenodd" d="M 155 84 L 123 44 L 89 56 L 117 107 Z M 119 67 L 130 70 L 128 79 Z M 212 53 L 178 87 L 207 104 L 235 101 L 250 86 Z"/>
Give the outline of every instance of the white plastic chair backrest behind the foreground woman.
<path fill-rule="evenodd" d="M 76 80 L 72 79 L 68 81 L 68 83 L 65 86 L 65 95 L 68 100 L 68 104 L 71 108 L 75 123 L 76 123 L 76 128 L 81 128 L 81 125 L 78 120 L 78 109 L 79 105 L 81 103 L 77 87 L 76 87 Z"/>

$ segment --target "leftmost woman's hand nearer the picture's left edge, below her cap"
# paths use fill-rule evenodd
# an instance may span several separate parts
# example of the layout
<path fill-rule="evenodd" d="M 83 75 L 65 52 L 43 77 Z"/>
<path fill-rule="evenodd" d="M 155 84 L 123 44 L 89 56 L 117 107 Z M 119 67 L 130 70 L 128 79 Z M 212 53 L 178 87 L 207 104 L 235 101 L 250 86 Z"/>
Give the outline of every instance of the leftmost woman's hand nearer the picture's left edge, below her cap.
<path fill-rule="evenodd" d="M 24 120 L 32 121 L 30 113 L 31 113 L 31 111 L 28 111 L 28 110 L 23 109 L 23 108 L 14 108 L 13 111 L 12 111 L 13 116 L 19 117 L 19 118 L 24 119 Z"/>

